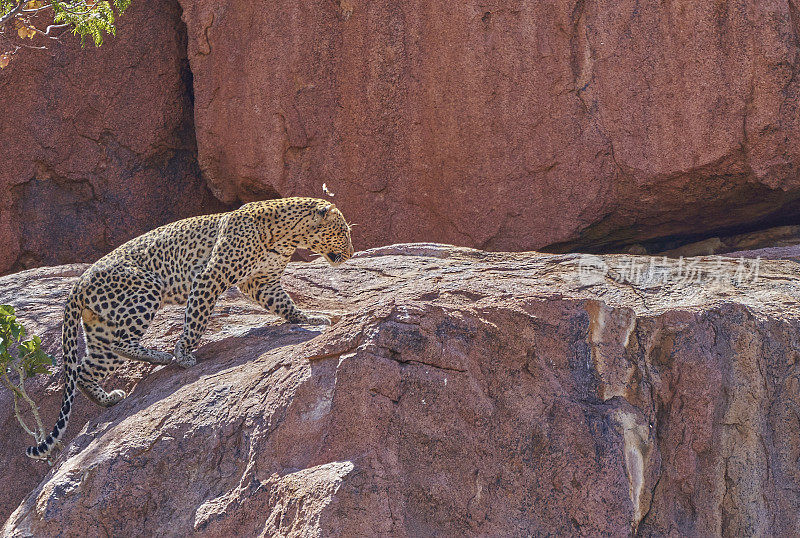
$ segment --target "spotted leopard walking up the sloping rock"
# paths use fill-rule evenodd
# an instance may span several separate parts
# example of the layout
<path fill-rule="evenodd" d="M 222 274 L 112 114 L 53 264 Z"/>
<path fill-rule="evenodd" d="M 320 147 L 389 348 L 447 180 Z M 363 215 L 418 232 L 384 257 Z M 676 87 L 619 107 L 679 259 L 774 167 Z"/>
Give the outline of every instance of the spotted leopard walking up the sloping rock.
<path fill-rule="evenodd" d="M 154 365 L 196 364 L 193 349 L 206 330 L 219 296 L 237 286 L 257 305 L 296 324 L 328 325 L 330 318 L 299 309 L 281 284 L 292 254 L 307 249 L 333 267 L 353 256 L 351 225 L 330 201 L 291 197 L 255 201 L 236 210 L 191 217 L 131 239 L 100 258 L 67 297 L 61 335 L 65 372 L 58 420 L 26 454 L 48 459 L 69 423 L 80 390 L 110 407 L 125 398 L 101 382 L 126 360 Z M 156 312 L 185 304 L 183 331 L 173 353 L 140 340 Z M 79 359 L 78 331 L 86 353 Z"/>

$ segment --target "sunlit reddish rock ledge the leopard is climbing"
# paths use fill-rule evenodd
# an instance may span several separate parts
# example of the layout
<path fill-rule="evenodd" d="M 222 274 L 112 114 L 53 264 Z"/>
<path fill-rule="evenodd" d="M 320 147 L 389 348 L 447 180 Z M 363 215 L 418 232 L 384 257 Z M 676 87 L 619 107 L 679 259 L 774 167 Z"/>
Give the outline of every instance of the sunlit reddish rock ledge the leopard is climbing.
<path fill-rule="evenodd" d="M 56 344 L 80 266 L 0 279 Z M 0 396 L 10 536 L 793 535 L 800 266 L 395 245 L 232 291 L 197 366 L 81 397 L 48 470 Z M 172 347 L 181 309 L 150 345 Z M 59 375 L 32 390 L 49 423 Z M 49 425 L 49 424 L 48 424 Z"/>

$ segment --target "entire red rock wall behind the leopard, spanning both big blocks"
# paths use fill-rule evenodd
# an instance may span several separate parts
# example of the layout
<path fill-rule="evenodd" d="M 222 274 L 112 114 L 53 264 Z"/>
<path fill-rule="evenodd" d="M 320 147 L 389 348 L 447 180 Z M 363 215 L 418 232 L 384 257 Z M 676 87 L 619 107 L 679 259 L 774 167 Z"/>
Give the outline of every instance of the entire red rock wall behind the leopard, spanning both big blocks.
<path fill-rule="evenodd" d="M 791 3 L 181 6 L 3 71 L 36 97 L 0 126 L 0 272 L 323 183 L 359 248 L 658 252 L 800 215 Z"/>

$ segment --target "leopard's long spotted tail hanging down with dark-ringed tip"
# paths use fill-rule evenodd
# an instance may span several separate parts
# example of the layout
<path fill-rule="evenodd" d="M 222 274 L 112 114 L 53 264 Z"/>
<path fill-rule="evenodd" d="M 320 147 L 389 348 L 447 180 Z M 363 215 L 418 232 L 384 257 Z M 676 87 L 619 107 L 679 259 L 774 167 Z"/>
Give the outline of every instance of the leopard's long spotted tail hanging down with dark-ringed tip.
<path fill-rule="evenodd" d="M 61 412 L 58 415 L 53 431 L 44 441 L 36 446 L 28 447 L 26 454 L 29 458 L 44 459 L 53 450 L 53 446 L 64 435 L 72 411 L 72 401 L 75 399 L 76 383 L 78 382 L 78 330 L 81 324 L 83 311 L 80 290 L 80 281 L 72 288 L 64 309 L 64 327 L 61 331 L 61 345 L 64 349 L 64 399 L 61 403 Z"/>

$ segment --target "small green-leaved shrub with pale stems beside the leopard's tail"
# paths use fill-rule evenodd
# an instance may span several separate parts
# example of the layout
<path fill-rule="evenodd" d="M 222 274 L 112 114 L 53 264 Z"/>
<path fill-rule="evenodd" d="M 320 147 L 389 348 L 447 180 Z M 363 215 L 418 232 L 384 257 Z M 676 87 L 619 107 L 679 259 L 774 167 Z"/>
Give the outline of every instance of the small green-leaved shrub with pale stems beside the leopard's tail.
<path fill-rule="evenodd" d="M 20 426 L 38 444 L 44 441 L 47 432 L 39 417 L 39 408 L 25 392 L 25 381 L 39 374 L 51 373 L 50 367 L 56 365 L 56 360 L 42 349 L 41 338 L 26 338 L 25 328 L 17 321 L 14 307 L 0 305 L 0 381 L 14 395 L 14 416 Z M 33 428 L 22 418 L 22 402 L 30 408 L 36 421 Z"/>

